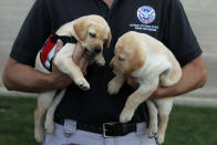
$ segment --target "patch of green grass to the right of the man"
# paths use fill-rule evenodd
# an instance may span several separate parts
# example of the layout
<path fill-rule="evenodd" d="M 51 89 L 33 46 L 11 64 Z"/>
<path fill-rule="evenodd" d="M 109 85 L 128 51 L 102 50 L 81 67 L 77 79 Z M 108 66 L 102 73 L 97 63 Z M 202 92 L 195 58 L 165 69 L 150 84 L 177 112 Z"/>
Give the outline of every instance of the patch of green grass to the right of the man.
<path fill-rule="evenodd" d="M 217 108 L 175 106 L 165 145 L 217 145 Z"/>

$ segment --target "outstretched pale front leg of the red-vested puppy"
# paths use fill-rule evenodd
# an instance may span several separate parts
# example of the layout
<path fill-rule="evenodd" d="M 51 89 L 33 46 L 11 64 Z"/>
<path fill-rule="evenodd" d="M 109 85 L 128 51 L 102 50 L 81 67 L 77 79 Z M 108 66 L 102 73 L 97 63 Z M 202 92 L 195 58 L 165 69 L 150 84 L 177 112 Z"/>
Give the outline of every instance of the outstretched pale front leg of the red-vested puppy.
<path fill-rule="evenodd" d="M 89 90 L 90 84 L 84 79 L 81 69 L 72 61 L 75 44 L 66 43 L 55 55 L 54 64 L 59 70 L 71 76 L 76 85 L 83 90 Z"/>

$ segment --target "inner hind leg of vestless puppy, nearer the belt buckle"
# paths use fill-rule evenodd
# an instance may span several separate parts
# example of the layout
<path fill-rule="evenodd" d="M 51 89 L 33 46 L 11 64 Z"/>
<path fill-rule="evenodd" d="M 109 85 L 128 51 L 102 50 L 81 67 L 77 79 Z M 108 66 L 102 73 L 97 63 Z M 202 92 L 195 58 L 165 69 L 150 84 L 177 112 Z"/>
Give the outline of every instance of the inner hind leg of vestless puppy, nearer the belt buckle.
<path fill-rule="evenodd" d="M 157 113 L 158 111 L 153 101 L 147 100 L 146 104 L 147 104 L 147 110 L 148 110 L 148 115 L 149 115 L 149 125 L 147 128 L 147 136 L 152 138 L 152 137 L 157 136 L 157 125 L 158 125 Z"/>

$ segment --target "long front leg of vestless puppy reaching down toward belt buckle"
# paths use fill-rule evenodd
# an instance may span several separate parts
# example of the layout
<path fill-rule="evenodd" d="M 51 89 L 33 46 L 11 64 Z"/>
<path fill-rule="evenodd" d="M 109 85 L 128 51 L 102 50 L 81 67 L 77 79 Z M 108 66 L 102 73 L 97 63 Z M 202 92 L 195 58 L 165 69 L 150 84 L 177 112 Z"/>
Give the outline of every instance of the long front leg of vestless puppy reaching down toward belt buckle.
<path fill-rule="evenodd" d="M 138 105 L 146 101 L 157 89 L 158 79 L 152 79 L 152 81 L 142 84 L 132 95 L 128 96 L 120 116 L 121 123 L 130 122 Z"/>

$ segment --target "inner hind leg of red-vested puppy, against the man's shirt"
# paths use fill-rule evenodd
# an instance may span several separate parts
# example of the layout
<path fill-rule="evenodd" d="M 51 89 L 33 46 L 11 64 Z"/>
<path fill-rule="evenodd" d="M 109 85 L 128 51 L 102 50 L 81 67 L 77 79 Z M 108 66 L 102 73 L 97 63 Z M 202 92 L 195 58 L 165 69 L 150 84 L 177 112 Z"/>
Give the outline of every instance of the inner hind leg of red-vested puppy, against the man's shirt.
<path fill-rule="evenodd" d="M 53 100 L 51 106 L 49 107 L 48 112 L 46 112 L 46 116 L 45 116 L 45 123 L 44 123 L 44 128 L 46 131 L 46 133 L 53 133 L 54 131 L 54 123 L 53 123 L 53 117 L 54 117 L 54 113 L 55 113 L 55 108 L 58 107 L 58 105 L 60 104 L 62 97 L 65 94 L 66 89 L 62 90 Z"/>

